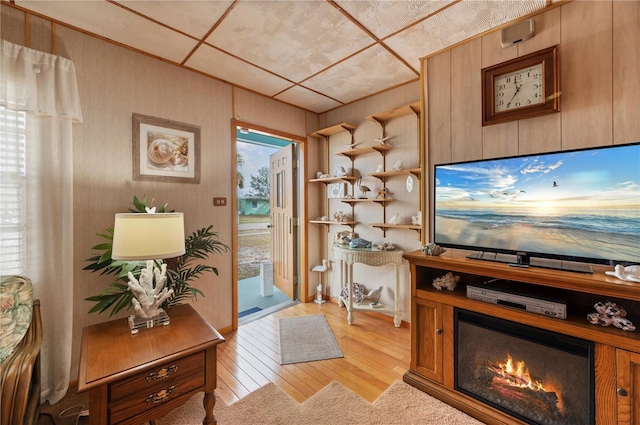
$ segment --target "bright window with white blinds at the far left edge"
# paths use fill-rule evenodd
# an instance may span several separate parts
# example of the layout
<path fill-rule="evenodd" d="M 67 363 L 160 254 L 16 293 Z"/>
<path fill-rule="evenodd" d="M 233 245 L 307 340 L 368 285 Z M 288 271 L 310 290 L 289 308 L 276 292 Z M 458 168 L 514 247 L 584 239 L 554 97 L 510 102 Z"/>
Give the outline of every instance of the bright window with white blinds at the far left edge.
<path fill-rule="evenodd" d="M 26 114 L 0 107 L 0 270 L 24 270 L 26 252 Z"/>

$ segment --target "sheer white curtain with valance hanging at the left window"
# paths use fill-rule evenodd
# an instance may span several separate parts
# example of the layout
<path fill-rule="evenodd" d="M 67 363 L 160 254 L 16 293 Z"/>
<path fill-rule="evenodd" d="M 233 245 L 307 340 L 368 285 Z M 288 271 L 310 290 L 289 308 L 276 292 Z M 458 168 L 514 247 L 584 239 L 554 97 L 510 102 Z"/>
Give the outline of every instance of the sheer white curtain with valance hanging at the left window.
<path fill-rule="evenodd" d="M 73 328 L 73 138 L 82 122 L 73 62 L 2 40 L 0 105 L 26 113 L 22 274 L 40 299 L 41 399 L 67 392 Z"/>

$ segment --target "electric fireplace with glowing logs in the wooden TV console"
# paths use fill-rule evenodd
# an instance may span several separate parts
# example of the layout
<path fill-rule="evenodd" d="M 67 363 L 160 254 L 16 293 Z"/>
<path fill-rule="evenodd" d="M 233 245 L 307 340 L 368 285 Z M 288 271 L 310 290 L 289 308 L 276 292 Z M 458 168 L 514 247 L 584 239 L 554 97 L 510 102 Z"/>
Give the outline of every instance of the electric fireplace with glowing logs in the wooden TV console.
<path fill-rule="evenodd" d="M 595 423 L 593 342 L 455 310 L 455 386 L 529 424 Z"/>

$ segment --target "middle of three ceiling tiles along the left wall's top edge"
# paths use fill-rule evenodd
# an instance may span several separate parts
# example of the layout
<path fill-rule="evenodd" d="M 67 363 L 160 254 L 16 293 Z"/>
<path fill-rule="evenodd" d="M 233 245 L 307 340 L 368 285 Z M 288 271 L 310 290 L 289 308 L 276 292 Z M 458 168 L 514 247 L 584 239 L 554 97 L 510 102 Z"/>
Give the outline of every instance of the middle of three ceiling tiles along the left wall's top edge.
<path fill-rule="evenodd" d="M 200 46 L 185 66 L 267 96 L 273 96 L 291 85 L 285 79 L 207 45 Z"/>

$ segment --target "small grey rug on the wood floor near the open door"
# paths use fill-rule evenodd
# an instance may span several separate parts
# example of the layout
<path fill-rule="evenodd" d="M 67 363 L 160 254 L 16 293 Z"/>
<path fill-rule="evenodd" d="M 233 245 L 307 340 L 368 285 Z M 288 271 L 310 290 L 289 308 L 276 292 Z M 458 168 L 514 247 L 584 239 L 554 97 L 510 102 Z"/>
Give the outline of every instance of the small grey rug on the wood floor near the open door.
<path fill-rule="evenodd" d="M 343 357 L 324 314 L 285 317 L 280 329 L 280 364 L 312 362 Z"/>

